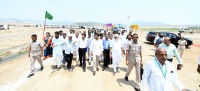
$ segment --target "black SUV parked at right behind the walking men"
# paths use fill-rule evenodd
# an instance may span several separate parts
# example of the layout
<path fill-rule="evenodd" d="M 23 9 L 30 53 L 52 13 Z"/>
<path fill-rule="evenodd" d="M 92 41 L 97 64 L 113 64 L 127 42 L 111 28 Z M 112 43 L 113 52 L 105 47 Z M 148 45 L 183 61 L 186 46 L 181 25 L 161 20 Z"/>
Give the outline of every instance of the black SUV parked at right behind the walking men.
<path fill-rule="evenodd" d="M 178 46 L 178 40 L 180 39 L 178 35 L 170 32 L 158 32 L 158 33 L 162 33 L 164 37 L 170 37 L 171 43 L 174 44 L 176 47 Z M 153 44 L 155 37 L 156 37 L 155 32 L 148 32 L 146 35 L 146 40 Z M 187 41 L 186 45 L 187 48 L 188 46 L 193 44 L 193 41 L 190 38 L 184 37 L 184 39 Z"/>

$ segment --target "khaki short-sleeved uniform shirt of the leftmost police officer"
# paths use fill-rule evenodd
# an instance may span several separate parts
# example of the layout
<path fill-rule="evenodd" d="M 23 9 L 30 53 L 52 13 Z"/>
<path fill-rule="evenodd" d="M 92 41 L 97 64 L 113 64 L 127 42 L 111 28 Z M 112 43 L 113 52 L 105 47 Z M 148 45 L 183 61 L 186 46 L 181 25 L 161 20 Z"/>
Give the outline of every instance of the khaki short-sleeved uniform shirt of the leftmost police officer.
<path fill-rule="evenodd" d="M 30 56 L 39 56 L 41 54 L 41 48 L 44 47 L 41 41 L 31 42 L 30 43 Z"/>

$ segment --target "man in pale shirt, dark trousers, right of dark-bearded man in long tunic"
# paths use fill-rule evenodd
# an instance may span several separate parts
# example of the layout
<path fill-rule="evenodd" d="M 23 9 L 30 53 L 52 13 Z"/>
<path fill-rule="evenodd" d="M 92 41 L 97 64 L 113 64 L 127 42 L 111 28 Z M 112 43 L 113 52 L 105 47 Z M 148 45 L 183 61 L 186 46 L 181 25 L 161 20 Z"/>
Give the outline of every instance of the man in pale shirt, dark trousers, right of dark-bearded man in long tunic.
<path fill-rule="evenodd" d="M 67 62 L 67 68 L 71 69 L 72 59 L 74 53 L 74 42 L 72 41 L 72 35 L 68 35 L 68 40 L 65 40 L 65 61 Z"/>

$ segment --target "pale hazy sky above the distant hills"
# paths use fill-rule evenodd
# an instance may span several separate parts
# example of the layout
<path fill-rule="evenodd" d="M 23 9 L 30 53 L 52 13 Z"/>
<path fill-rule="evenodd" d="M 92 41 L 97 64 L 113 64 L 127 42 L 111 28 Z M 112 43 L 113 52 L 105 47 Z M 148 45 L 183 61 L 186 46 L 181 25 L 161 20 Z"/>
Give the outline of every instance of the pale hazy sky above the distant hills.
<path fill-rule="evenodd" d="M 0 0 L 0 18 L 53 21 L 200 24 L 200 0 Z M 128 19 L 128 16 L 129 19 Z"/>

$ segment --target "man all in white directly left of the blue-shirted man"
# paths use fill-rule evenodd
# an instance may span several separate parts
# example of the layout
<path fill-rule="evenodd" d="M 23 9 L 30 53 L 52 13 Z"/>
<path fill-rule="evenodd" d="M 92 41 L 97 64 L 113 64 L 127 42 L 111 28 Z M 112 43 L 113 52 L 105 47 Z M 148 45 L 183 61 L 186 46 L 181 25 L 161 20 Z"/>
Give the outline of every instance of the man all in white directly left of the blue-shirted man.
<path fill-rule="evenodd" d="M 99 57 L 102 55 L 103 44 L 99 40 L 99 36 L 95 34 L 95 39 L 91 43 L 91 56 L 93 57 L 93 75 L 96 74 L 96 71 L 99 71 Z"/>

